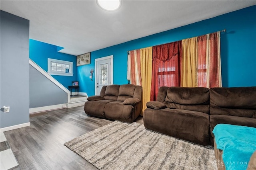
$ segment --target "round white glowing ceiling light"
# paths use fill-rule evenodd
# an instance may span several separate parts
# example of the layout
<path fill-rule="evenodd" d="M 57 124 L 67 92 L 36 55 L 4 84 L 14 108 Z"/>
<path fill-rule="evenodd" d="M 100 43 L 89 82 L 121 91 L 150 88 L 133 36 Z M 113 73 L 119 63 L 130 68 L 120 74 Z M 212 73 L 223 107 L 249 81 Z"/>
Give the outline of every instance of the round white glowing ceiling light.
<path fill-rule="evenodd" d="M 115 11 L 121 6 L 121 0 L 96 0 L 98 6 L 106 11 Z"/>

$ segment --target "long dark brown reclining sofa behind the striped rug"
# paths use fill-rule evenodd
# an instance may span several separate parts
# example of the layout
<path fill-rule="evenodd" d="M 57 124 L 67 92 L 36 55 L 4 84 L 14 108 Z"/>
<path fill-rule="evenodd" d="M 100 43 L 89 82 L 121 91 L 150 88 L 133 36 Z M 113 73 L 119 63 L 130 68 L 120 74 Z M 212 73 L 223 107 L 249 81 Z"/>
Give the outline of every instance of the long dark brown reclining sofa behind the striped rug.
<path fill-rule="evenodd" d="M 147 129 L 200 145 L 214 145 L 219 123 L 256 127 L 256 87 L 160 87 L 146 106 Z"/>

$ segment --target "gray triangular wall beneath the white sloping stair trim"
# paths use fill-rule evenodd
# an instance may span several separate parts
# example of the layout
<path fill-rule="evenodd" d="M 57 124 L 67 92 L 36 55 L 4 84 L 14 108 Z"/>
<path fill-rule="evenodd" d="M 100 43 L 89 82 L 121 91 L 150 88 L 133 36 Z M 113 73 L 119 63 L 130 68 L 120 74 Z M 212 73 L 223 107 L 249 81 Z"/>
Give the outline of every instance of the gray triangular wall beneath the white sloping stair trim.
<path fill-rule="evenodd" d="M 29 66 L 29 97 L 29 108 L 68 102 L 68 94 L 31 65 Z"/>

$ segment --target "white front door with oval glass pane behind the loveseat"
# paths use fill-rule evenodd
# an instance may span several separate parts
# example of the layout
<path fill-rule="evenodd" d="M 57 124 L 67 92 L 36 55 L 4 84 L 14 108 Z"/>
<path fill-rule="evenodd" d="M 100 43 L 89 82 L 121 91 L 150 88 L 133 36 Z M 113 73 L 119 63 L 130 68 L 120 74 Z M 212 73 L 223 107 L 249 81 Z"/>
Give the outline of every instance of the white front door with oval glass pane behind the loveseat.
<path fill-rule="evenodd" d="M 100 95 L 102 86 L 113 84 L 113 55 L 95 59 L 95 95 Z"/>

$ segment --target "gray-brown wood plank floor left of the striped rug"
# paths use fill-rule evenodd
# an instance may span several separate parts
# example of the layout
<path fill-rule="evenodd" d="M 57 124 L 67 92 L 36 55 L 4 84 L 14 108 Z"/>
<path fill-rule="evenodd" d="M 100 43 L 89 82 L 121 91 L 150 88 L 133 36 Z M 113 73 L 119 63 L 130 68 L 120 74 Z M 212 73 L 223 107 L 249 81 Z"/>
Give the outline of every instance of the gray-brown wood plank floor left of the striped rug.
<path fill-rule="evenodd" d="M 63 144 L 111 122 L 86 115 L 80 106 L 33 115 L 30 127 L 4 134 L 19 163 L 15 170 L 97 170 Z M 136 122 L 143 124 L 142 117 Z"/>

